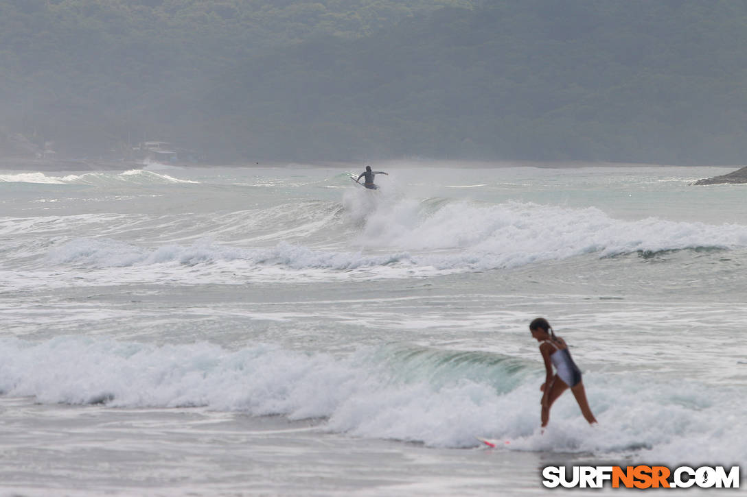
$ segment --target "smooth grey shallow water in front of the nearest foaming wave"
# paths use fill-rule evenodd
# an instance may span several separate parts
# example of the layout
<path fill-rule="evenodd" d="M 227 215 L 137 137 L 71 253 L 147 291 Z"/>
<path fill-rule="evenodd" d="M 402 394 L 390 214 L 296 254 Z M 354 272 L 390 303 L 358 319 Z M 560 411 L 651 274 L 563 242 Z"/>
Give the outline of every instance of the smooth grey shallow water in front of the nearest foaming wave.
<path fill-rule="evenodd" d="M 204 407 L 113 408 L 0 396 L 0 410 L 7 454 L 0 456 L 0 495 L 445 497 L 496 488 L 540 495 L 545 459 L 580 457 L 428 448 L 329 433 L 314 419 Z M 46 471 L 24 471 L 38 460 Z"/>

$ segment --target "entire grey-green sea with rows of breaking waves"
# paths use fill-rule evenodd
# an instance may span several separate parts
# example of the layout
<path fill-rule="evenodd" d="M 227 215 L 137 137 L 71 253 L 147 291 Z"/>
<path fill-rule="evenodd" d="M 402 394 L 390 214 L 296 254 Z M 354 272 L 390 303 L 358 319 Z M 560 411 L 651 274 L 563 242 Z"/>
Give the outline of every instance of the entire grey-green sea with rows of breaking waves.
<path fill-rule="evenodd" d="M 375 192 L 352 165 L 0 172 L 0 495 L 744 478 L 747 185 L 689 185 L 728 169 L 374 169 Z M 565 393 L 539 429 L 536 316 L 597 426 Z"/>

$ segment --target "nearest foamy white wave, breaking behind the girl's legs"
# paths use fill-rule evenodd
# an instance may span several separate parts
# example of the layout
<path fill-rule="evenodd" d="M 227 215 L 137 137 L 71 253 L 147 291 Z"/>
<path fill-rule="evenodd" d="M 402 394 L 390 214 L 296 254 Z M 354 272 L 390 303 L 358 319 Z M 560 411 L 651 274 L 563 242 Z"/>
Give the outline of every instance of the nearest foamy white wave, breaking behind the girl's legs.
<path fill-rule="evenodd" d="M 689 464 L 747 458 L 747 403 L 733 388 L 587 372 L 587 395 L 600 424 L 589 427 L 566 395 L 542 434 L 541 363 L 517 368 L 501 366 L 505 358 L 495 363 L 490 354 L 396 352 L 383 346 L 335 357 L 276 346 L 229 351 L 208 343 L 4 338 L 0 392 L 43 403 L 201 406 L 322 418 L 325 430 L 433 447 L 476 446 L 474 437 L 483 436 L 509 441 L 508 450 L 637 454 L 638 460 Z"/>

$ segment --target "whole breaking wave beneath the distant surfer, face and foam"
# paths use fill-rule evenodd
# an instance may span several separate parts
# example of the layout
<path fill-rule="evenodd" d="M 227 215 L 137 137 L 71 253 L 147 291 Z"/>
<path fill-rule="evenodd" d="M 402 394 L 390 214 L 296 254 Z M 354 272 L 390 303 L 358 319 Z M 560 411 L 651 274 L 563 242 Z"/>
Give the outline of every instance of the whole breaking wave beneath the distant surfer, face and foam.
<path fill-rule="evenodd" d="M 142 171 L 123 175 L 148 177 Z M 206 264 L 211 263 L 227 263 L 241 272 L 249 269 L 251 278 L 269 270 L 314 270 L 338 278 L 345 272 L 356 276 L 362 269 L 373 278 L 409 278 L 515 268 L 589 254 L 610 257 L 635 251 L 747 247 L 746 225 L 655 217 L 627 221 L 595 207 L 514 201 L 416 201 L 394 189 L 360 188 L 344 194 L 342 209 L 335 202 L 306 201 L 220 216 L 92 213 L 31 221 L 5 218 L 0 219 L 0 231 L 55 240 L 44 260 L 46 269 L 50 264 L 87 268 L 172 264 L 176 278 L 180 265 L 198 265 L 199 273 L 208 272 Z M 71 233 L 81 235 L 69 237 Z M 210 240 L 201 240 L 204 237 Z M 37 257 L 36 251 L 25 254 L 25 245 L 19 239 L 13 257 Z"/>

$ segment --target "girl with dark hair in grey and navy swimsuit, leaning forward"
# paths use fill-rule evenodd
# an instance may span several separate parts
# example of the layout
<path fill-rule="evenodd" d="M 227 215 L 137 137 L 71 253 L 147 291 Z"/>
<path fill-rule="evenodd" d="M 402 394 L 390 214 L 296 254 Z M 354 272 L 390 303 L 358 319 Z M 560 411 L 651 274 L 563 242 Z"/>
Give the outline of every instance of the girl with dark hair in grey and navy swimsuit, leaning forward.
<path fill-rule="evenodd" d="M 576 363 L 571 359 L 571 353 L 565 340 L 555 336 L 555 332 L 550 323 L 545 318 L 537 318 L 529 325 L 529 331 L 532 337 L 539 342 L 539 351 L 542 353 L 542 359 L 545 360 L 545 383 L 539 390 L 542 390 L 542 427 L 548 425 L 550 420 L 550 407 L 553 402 L 570 387 L 573 396 L 581 408 L 583 417 L 589 424 L 597 422 L 589 409 L 589 401 L 586 400 L 586 390 L 583 389 L 581 381 L 581 371 Z M 553 375 L 553 366 L 556 373 Z"/>

